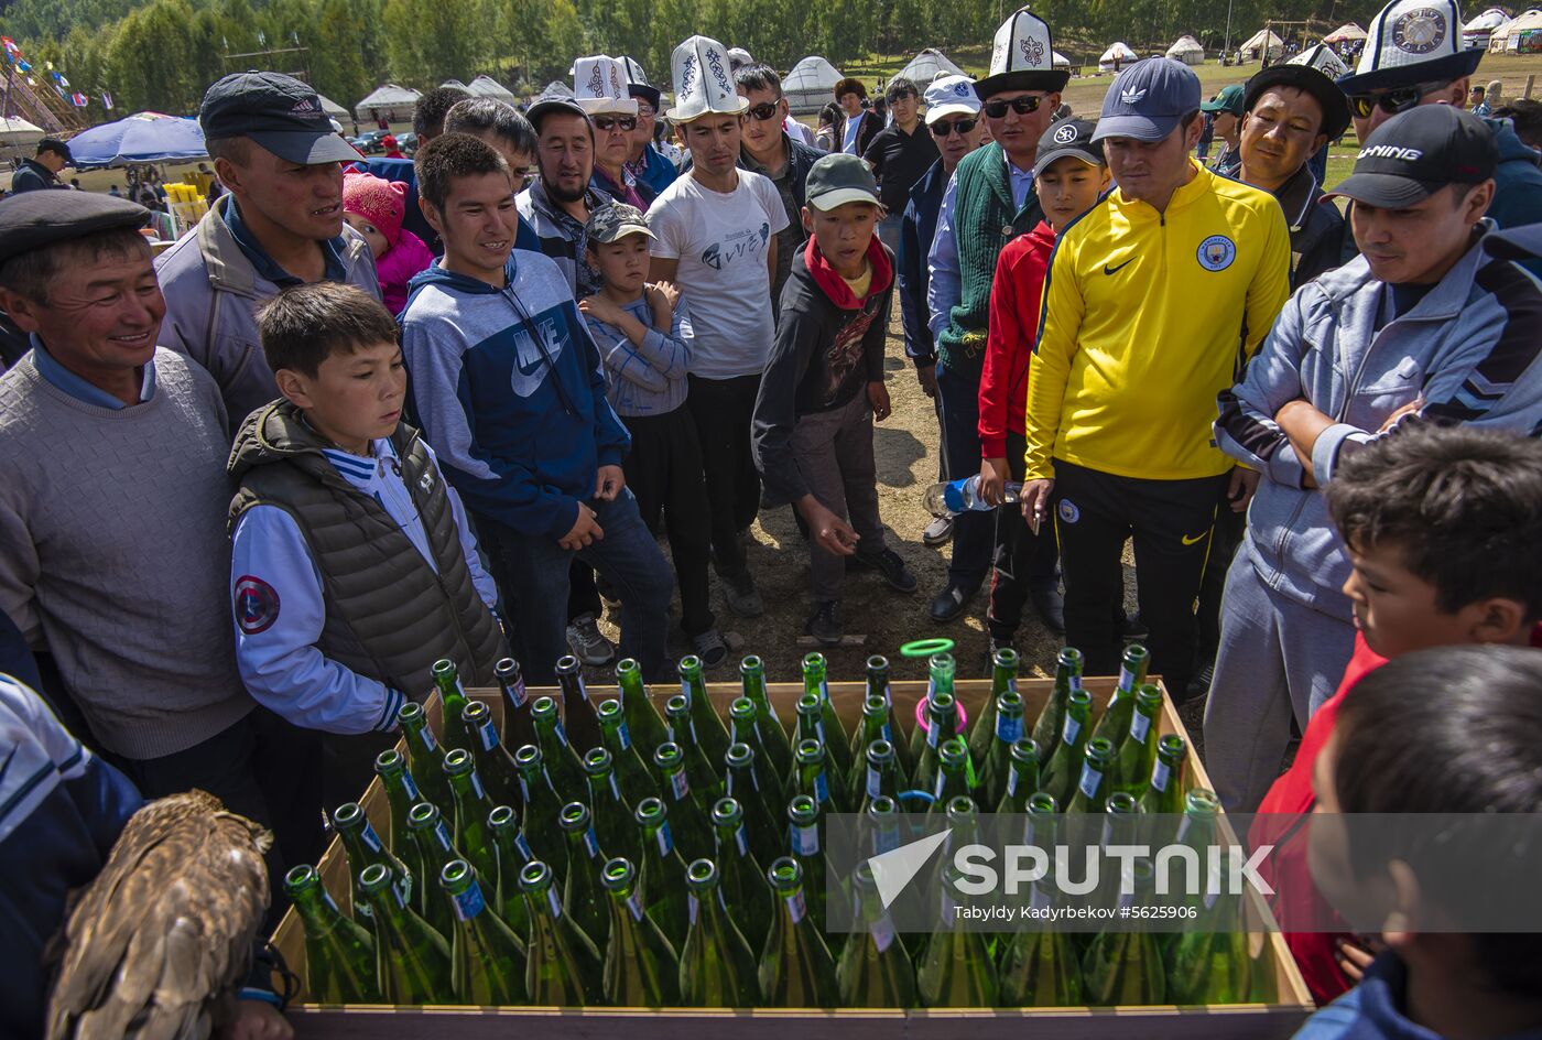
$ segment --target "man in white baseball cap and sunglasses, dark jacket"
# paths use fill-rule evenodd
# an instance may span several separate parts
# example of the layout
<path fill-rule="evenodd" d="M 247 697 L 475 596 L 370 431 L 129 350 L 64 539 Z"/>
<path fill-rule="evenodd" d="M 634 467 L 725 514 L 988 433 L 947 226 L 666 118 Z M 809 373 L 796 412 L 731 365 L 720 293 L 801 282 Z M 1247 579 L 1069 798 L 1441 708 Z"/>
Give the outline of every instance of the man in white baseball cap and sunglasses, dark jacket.
<path fill-rule="evenodd" d="M 899 230 L 899 318 L 905 329 L 905 356 L 916 364 L 921 392 L 938 409 L 939 443 L 942 409 L 938 404 L 938 350 L 927 327 L 927 253 L 938 233 L 938 211 L 953 171 L 964 156 L 979 148 L 985 125 L 979 117 L 979 94 L 968 76 L 944 76 L 927 86 L 927 133 L 938 147 L 938 160 L 910 188 Z M 938 480 L 948 478 L 947 452 L 938 452 Z M 953 517 L 938 517 L 921 532 L 924 545 L 942 545 L 953 537 Z"/>

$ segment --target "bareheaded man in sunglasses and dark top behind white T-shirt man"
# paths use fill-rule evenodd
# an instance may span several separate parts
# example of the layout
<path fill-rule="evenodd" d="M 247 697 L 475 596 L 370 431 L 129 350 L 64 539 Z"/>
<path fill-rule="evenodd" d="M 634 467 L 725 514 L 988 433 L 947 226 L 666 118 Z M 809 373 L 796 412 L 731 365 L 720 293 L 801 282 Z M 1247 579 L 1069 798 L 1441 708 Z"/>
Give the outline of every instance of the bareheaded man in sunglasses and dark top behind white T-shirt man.
<path fill-rule="evenodd" d="M 739 167 L 769 179 L 786 210 L 786 227 L 776 236 L 776 278 L 771 281 L 771 312 L 780 315 L 782 285 L 793 272 L 793 256 L 808 241 L 808 231 L 803 230 L 803 184 L 810 167 L 825 153 L 786 133 L 788 103 L 782 94 L 782 77 L 774 68 L 740 66 L 734 71 L 734 89 L 749 102 L 740 117 Z"/>

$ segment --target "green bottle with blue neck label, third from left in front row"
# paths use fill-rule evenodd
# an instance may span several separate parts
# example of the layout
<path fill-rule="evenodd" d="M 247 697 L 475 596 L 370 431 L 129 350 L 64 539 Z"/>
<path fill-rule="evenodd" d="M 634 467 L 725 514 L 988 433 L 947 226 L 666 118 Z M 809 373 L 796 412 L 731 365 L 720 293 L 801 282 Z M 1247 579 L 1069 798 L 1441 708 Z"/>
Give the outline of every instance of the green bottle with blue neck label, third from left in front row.
<path fill-rule="evenodd" d="M 455 909 L 450 940 L 450 991 L 455 998 L 483 1008 L 523 1005 L 524 944 L 487 906 L 472 864 L 464 859 L 444 864 L 439 887 Z"/>

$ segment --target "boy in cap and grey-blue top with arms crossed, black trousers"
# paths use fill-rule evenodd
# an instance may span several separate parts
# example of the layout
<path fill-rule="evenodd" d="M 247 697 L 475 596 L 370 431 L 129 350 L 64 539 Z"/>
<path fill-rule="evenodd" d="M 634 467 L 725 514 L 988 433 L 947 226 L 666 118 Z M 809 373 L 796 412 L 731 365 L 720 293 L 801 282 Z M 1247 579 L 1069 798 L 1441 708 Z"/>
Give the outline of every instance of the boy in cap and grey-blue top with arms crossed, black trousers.
<path fill-rule="evenodd" d="M 680 628 L 708 668 L 728 659 L 708 594 L 712 528 L 702 475 L 702 444 L 685 406 L 691 312 L 669 282 L 648 282 L 648 230 L 637 207 L 603 205 L 589 214 L 586 259 L 600 292 L 578 301 L 600 347 L 611 406 L 626 421 L 632 449 L 621 469 L 643 522 L 663 512 L 680 585 Z"/>

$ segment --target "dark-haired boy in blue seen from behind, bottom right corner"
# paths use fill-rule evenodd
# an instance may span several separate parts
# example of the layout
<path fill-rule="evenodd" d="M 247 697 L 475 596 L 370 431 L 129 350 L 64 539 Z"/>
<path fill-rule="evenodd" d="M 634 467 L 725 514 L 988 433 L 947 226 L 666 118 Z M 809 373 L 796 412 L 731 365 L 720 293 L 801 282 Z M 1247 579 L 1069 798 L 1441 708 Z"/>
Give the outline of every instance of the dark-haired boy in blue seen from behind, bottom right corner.
<path fill-rule="evenodd" d="M 1445 886 L 1457 878 L 1493 892 L 1494 912 L 1513 906 L 1500 904 L 1507 889 L 1533 881 L 1525 824 L 1508 833 L 1513 847 L 1488 856 L 1480 836 L 1453 830 L 1457 819 L 1523 818 L 1542 804 L 1539 688 L 1542 654 L 1513 647 L 1420 650 L 1355 687 L 1317 756 L 1317 812 L 1442 822 L 1396 847 L 1355 826 L 1309 829 L 1314 880 L 1335 906 L 1380 918 L 1385 951 L 1297 1040 L 1542 1035 L 1542 938 L 1439 924 L 1451 920 Z"/>

